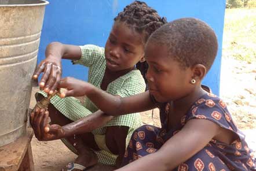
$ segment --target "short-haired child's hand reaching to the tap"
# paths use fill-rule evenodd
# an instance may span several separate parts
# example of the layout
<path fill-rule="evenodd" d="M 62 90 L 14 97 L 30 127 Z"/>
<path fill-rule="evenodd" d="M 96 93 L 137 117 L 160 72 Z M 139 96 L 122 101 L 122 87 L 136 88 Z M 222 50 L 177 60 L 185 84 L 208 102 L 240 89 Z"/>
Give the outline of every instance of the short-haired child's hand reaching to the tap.
<path fill-rule="evenodd" d="M 65 77 L 60 80 L 58 88 L 66 88 L 67 91 L 61 92 L 60 97 L 65 96 L 84 96 L 93 89 L 93 85 L 73 77 Z"/>

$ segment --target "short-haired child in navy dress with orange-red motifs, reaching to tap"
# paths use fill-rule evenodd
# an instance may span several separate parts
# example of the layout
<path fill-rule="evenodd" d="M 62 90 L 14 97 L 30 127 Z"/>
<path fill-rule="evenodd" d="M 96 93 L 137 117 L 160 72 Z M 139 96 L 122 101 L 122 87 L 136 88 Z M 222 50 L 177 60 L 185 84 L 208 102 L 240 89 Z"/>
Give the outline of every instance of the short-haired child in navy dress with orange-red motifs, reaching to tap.
<path fill-rule="evenodd" d="M 226 104 L 201 85 L 217 46 L 209 25 L 181 18 L 157 29 L 146 44 L 149 91 L 117 98 L 72 78 L 60 87 L 66 96 L 87 95 L 113 116 L 159 107 L 162 128 L 134 131 L 118 170 L 253 170 L 255 159 Z M 46 123 L 47 113 L 41 117 Z M 47 124 L 42 130 L 54 132 Z"/>

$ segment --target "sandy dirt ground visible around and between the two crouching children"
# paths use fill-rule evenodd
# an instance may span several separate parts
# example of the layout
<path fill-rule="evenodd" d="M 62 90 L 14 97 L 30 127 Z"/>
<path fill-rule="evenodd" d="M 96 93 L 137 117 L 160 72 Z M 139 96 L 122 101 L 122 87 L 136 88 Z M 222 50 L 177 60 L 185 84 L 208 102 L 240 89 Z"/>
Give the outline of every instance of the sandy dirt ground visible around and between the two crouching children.
<path fill-rule="evenodd" d="M 247 135 L 247 142 L 256 150 L 256 64 L 237 61 L 229 58 L 222 59 L 221 98 L 228 104 L 237 126 Z M 33 88 L 31 105 L 35 106 Z M 141 113 L 144 124 L 160 126 L 157 109 Z M 61 170 L 68 162 L 74 161 L 73 154 L 60 140 L 39 142 L 32 138 L 32 153 L 36 171 Z M 97 169 L 96 169 L 97 170 Z M 104 168 L 104 170 L 108 170 Z"/>

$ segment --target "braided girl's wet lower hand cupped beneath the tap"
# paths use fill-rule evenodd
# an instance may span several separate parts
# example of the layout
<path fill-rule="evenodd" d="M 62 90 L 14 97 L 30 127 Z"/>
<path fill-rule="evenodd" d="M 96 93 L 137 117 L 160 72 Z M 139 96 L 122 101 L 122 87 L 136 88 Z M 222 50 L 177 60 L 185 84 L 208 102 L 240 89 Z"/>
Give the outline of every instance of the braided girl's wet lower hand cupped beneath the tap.
<path fill-rule="evenodd" d="M 64 129 L 57 124 L 49 124 L 49 111 L 38 106 L 30 114 L 30 125 L 38 140 L 56 140 L 65 136 Z"/>

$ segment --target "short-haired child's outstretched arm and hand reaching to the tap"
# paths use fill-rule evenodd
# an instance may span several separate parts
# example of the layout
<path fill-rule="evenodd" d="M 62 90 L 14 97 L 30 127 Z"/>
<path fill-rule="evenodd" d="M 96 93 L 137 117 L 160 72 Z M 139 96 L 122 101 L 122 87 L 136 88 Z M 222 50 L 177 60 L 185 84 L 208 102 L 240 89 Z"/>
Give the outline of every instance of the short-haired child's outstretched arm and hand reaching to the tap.
<path fill-rule="evenodd" d="M 90 83 L 72 77 L 61 79 L 59 87 L 67 88 L 68 90 L 61 94 L 63 95 L 62 97 L 86 95 L 98 109 L 112 116 L 145 111 L 156 107 L 148 91 L 120 98 L 120 96 L 108 94 Z"/>

